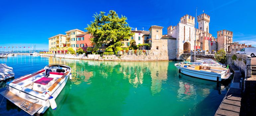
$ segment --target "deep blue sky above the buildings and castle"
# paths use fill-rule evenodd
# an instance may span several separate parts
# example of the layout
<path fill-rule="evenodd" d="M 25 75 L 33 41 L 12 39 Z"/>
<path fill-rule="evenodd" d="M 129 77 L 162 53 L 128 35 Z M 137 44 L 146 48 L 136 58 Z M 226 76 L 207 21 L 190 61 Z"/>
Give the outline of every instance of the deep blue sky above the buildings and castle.
<path fill-rule="evenodd" d="M 128 18 L 133 29 L 148 30 L 152 25 L 176 26 L 186 14 L 203 13 L 211 16 L 209 31 L 217 37 L 218 30 L 233 31 L 233 42 L 256 46 L 255 1 L 193 1 L 193 0 L 129 0 L 129 1 L 21 1 L 1 0 L 0 46 L 31 46 L 37 50 L 48 49 L 49 37 L 65 34 L 71 29 L 87 27 L 95 12 L 115 10 Z"/>

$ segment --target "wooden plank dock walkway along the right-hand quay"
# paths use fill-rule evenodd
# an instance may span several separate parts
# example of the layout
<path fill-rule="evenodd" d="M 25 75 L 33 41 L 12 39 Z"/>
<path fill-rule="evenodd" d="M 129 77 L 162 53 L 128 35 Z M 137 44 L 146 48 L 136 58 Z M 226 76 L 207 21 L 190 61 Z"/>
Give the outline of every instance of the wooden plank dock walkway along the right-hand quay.
<path fill-rule="evenodd" d="M 234 78 L 215 116 L 239 116 L 240 114 L 242 89 L 239 86 L 242 75 L 238 68 L 234 66 L 231 68 L 235 72 Z"/>

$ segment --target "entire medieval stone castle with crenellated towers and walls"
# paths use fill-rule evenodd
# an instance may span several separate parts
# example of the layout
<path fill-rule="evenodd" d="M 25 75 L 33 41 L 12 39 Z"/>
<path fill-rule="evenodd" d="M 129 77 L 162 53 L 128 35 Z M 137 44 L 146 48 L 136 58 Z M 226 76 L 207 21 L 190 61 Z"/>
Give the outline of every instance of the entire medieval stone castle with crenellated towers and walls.
<path fill-rule="evenodd" d="M 167 28 L 167 35 L 161 35 L 163 27 L 151 26 L 149 29 L 149 39 L 152 42 L 151 49 L 166 51 L 169 60 L 180 60 L 183 53 L 190 53 L 194 49 L 203 49 L 205 51 L 220 49 L 225 51 L 238 50 L 233 43 L 232 31 L 220 30 L 217 31 L 217 38 L 212 36 L 209 32 L 209 15 L 204 13 L 197 16 L 197 22 L 198 29 L 195 28 L 195 17 L 185 15 L 181 17 L 180 22 L 176 26 L 169 26 Z M 160 32 L 158 33 L 158 31 Z M 246 46 L 242 44 L 239 48 L 242 47 Z"/>

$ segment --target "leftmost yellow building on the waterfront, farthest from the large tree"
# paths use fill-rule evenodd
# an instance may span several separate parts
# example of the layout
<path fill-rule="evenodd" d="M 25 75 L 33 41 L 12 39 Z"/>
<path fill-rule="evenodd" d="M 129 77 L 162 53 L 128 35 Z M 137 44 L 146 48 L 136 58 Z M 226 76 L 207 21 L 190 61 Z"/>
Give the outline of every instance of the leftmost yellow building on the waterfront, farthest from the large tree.
<path fill-rule="evenodd" d="M 49 51 L 52 51 L 53 49 L 65 46 L 66 35 L 57 34 L 55 36 L 48 38 L 48 40 L 49 40 Z"/>

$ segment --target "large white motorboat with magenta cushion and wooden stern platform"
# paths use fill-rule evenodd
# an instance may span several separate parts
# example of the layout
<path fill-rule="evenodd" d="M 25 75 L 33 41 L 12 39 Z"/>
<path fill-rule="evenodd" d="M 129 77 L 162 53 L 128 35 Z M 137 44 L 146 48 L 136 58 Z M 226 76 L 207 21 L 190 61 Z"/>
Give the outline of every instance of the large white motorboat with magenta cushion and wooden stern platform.
<path fill-rule="evenodd" d="M 55 110 L 55 98 L 66 85 L 70 72 L 67 65 L 50 64 L 40 71 L 7 82 L 7 89 L 0 94 L 30 115 L 44 113 L 50 106 Z"/>

